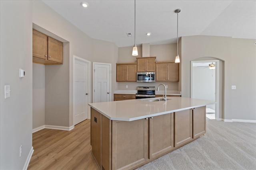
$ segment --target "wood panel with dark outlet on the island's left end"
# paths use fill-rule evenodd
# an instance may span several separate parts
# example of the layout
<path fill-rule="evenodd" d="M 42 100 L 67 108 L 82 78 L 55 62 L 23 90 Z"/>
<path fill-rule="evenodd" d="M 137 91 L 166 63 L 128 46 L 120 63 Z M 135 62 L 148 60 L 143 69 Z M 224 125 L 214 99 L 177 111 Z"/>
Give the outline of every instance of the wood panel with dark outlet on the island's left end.
<path fill-rule="evenodd" d="M 99 167 L 101 167 L 101 118 L 102 114 L 91 108 L 92 155 Z"/>

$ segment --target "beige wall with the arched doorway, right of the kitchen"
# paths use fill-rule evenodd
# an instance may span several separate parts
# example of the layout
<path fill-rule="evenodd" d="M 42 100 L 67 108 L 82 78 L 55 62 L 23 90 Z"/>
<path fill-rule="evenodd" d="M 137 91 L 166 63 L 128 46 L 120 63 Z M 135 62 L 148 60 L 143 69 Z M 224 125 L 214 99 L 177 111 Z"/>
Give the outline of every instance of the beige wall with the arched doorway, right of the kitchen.
<path fill-rule="evenodd" d="M 182 37 L 182 96 L 190 97 L 190 61 L 200 57 L 220 59 L 224 61 L 224 115 L 220 118 L 255 121 L 255 41 L 203 35 Z M 236 90 L 231 90 L 232 85 L 237 85 Z"/>

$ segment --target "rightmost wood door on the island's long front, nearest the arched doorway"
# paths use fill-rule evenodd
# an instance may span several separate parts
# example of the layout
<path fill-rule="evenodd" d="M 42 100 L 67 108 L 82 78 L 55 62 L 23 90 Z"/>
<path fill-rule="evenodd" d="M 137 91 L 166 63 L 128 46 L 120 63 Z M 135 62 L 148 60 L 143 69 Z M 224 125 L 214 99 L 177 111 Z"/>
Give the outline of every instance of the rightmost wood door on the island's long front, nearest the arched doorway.
<path fill-rule="evenodd" d="M 206 106 L 192 109 L 193 138 L 200 137 L 206 133 Z"/>

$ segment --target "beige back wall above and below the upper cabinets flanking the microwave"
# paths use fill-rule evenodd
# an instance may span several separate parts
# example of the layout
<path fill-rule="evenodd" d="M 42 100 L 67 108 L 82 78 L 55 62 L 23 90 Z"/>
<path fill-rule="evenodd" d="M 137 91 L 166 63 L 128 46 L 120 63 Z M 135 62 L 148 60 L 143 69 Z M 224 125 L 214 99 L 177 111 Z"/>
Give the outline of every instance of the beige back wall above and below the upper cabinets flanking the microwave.
<path fill-rule="evenodd" d="M 177 55 L 176 44 L 162 44 L 162 45 L 150 45 L 150 56 L 148 57 L 156 57 L 156 61 L 175 61 L 176 55 Z M 141 56 L 142 56 L 142 46 L 138 46 L 138 56 L 136 57 L 141 57 Z M 118 63 L 136 63 L 137 62 L 136 57 L 132 56 L 132 47 L 118 48 Z M 179 82 L 152 82 L 152 83 L 119 82 L 118 90 L 136 90 L 137 86 L 155 86 L 157 88 L 160 83 L 164 83 L 168 85 L 167 90 L 179 89 Z M 126 88 L 126 85 L 128 85 L 128 88 Z M 164 88 L 161 86 L 160 90 L 164 90 Z"/>

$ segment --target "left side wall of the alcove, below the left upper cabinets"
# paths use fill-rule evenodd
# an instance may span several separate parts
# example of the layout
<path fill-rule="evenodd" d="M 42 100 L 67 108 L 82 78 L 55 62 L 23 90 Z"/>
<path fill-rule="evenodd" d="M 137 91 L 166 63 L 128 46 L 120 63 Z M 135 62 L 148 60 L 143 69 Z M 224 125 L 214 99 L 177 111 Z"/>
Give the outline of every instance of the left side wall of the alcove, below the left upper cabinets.
<path fill-rule="evenodd" d="M 33 125 L 45 125 L 45 65 L 33 63 Z"/>

